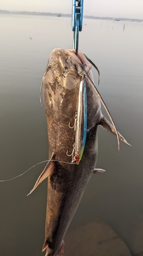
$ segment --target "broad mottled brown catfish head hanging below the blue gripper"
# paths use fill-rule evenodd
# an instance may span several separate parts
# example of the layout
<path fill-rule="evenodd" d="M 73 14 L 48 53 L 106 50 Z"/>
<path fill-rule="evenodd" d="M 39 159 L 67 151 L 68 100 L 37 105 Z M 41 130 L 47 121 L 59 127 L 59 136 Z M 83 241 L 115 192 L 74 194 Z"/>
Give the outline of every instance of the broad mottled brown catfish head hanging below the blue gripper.
<path fill-rule="evenodd" d="M 43 76 L 44 106 L 48 125 L 49 154 L 54 152 L 60 160 L 73 150 L 75 131 L 70 129 L 74 125 L 77 112 L 79 86 L 85 79 L 87 87 L 88 129 L 98 124 L 100 119 L 100 101 L 86 79 L 89 75 L 93 79 L 91 63 L 79 52 L 73 50 L 54 49 L 48 60 Z M 97 117 L 96 117 L 97 115 Z"/>

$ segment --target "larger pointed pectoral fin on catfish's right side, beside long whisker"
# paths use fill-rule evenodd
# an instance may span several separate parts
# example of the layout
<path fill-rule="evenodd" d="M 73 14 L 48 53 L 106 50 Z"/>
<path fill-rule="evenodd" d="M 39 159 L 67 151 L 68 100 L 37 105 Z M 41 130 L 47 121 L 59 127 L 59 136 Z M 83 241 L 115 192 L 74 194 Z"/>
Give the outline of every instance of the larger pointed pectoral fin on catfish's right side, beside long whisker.
<path fill-rule="evenodd" d="M 114 134 L 114 135 L 117 136 L 115 127 L 113 127 L 112 124 L 111 124 L 104 116 L 102 116 L 99 125 L 100 125 L 103 129 L 105 129 L 107 132 L 112 133 L 112 134 Z M 122 140 L 122 141 L 125 142 L 126 144 L 130 145 L 130 144 L 124 139 L 124 137 L 123 137 L 119 132 L 118 132 L 118 136 L 119 136 L 119 139 L 120 139 L 120 140 Z M 130 145 L 130 146 L 131 146 L 131 145 Z"/>

